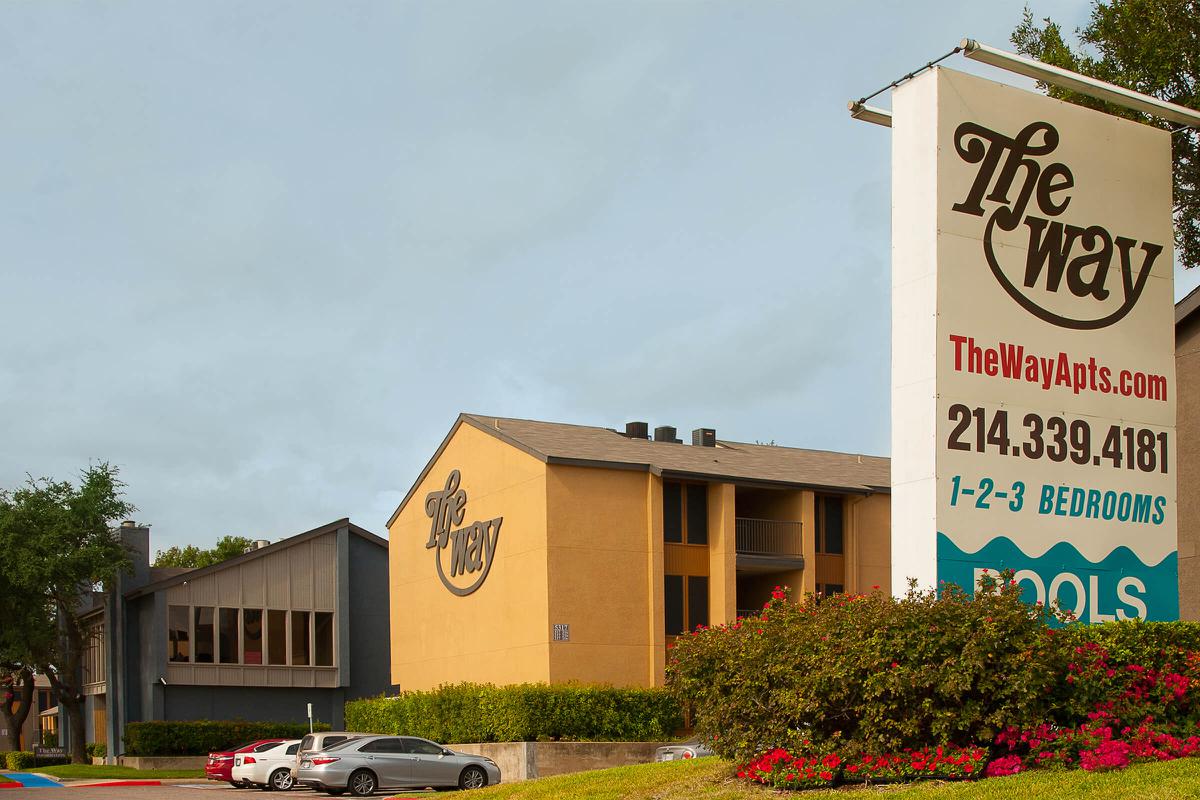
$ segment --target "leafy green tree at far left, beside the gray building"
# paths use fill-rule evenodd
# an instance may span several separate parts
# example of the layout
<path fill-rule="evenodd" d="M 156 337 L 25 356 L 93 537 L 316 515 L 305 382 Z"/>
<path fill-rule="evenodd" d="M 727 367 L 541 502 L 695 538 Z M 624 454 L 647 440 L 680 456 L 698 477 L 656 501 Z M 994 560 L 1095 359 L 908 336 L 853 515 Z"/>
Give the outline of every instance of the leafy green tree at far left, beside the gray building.
<path fill-rule="evenodd" d="M 0 593 L 26 602 L 20 614 L 6 613 L 0 655 L 50 680 L 67 712 L 71 760 L 79 764 L 85 760 L 85 631 L 78 613 L 85 610 L 82 597 L 100 584 L 112 585 L 130 567 L 114 527 L 134 511 L 124 488 L 118 469 L 100 463 L 80 473 L 78 486 L 29 477 L 16 489 L 0 489 L 7 582 Z"/>

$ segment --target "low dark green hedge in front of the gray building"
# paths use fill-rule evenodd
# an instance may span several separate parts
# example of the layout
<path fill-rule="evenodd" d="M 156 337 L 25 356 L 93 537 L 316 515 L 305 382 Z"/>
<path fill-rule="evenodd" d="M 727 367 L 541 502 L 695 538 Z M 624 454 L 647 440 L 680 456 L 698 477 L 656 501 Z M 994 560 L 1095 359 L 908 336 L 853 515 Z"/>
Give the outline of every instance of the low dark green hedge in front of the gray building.
<path fill-rule="evenodd" d="M 328 724 L 313 727 L 329 730 Z M 131 722 L 125 726 L 125 754 L 205 756 L 257 739 L 301 739 L 307 733 L 304 722 Z"/>

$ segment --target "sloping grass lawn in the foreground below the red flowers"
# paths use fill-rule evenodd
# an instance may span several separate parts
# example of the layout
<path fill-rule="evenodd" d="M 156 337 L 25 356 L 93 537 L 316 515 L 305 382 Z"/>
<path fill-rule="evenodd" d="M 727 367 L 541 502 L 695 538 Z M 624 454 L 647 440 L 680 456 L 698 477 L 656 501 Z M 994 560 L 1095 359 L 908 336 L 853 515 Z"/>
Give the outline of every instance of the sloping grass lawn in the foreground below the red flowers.
<path fill-rule="evenodd" d="M 880 800 L 1178 800 L 1200 799 L 1200 759 L 1130 766 L 1118 772 L 1034 772 L 974 783 L 775 792 L 732 777 L 727 762 L 702 758 L 638 764 L 509 783 L 473 792 L 478 800 L 767 800 L 768 798 L 880 798 Z M 400 795 L 403 796 L 403 795 Z"/>

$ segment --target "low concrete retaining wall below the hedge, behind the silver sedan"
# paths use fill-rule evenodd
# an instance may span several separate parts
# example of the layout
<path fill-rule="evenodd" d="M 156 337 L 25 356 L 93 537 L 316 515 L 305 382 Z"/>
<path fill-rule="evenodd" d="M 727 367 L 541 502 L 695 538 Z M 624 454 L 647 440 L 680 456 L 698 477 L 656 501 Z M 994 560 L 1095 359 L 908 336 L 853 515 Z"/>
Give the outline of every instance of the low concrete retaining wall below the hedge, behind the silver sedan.
<path fill-rule="evenodd" d="M 535 777 L 647 764 L 659 741 L 508 741 L 450 745 L 454 750 L 487 756 L 500 768 L 505 783 Z"/>

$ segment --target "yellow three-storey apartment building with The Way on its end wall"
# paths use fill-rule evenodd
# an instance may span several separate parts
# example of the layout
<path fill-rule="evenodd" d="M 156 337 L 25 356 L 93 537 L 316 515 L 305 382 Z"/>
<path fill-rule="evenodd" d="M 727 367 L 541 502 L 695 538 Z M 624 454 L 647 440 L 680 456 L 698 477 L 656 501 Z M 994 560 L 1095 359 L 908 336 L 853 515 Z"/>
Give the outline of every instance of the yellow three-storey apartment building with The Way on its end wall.
<path fill-rule="evenodd" d="M 890 591 L 887 458 L 462 414 L 388 523 L 391 680 L 664 682 L 674 637 Z"/>

